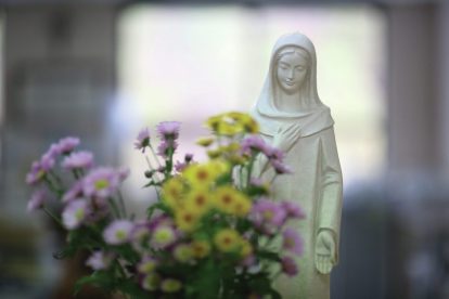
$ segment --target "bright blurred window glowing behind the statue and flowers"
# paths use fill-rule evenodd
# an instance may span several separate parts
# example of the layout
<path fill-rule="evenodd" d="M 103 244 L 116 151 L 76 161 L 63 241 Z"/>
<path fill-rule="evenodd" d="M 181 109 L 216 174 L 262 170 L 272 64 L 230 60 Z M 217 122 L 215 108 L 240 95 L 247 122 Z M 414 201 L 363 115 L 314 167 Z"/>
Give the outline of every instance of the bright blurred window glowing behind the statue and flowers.
<path fill-rule="evenodd" d="M 193 141 L 206 133 L 203 120 L 249 110 L 271 48 L 292 31 L 306 34 L 316 46 L 318 89 L 335 119 L 346 186 L 380 176 L 386 147 L 385 22 L 370 5 L 130 6 L 118 24 L 119 96 L 112 120 L 123 140 L 123 162 L 133 170 L 133 187 L 142 185 L 145 169 L 132 150 L 141 127 L 180 120 L 180 155 L 202 157 Z"/>

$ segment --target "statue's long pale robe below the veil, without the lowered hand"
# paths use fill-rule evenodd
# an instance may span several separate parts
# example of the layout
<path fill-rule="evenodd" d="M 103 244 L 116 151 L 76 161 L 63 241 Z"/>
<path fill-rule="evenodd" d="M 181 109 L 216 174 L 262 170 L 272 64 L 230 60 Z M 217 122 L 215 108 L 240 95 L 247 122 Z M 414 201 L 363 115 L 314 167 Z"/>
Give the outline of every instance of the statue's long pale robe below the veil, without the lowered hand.
<path fill-rule="evenodd" d="M 272 140 L 269 135 L 262 138 L 269 143 Z M 330 298 L 330 275 L 318 272 L 315 245 L 320 230 L 331 230 L 337 244 L 334 258 L 338 260 L 342 174 L 333 127 L 298 138 L 286 154 L 285 164 L 295 172 L 274 178 L 273 171 L 269 170 L 262 179 L 272 181 L 275 199 L 292 200 L 304 209 L 306 219 L 292 224 L 304 239 L 304 255 L 296 259 L 298 275 L 282 275 L 275 286 L 286 299 Z"/>

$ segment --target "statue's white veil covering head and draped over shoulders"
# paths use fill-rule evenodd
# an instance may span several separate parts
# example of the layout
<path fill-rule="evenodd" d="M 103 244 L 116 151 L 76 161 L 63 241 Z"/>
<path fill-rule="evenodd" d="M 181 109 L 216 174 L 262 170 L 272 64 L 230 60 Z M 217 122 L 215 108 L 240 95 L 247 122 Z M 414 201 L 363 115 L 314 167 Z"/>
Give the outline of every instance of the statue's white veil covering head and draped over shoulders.
<path fill-rule="evenodd" d="M 277 55 L 285 47 L 298 47 L 309 53 L 309 72 L 302 90 L 308 105 L 308 109 L 304 112 L 282 112 L 275 105 L 275 88 L 278 86 L 275 79 Z M 252 109 L 252 115 L 259 122 L 261 133 L 267 135 L 274 135 L 282 125 L 290 122 L 299 123 L 302 136 L 317 133 L 333 126 L 334 121 L 330 109 L 321 103 L 317 91 L 317 54 L 315 47 L 305 35 L 295 32 L 278 39 L 271 52 L 270 66 L 264 88 Z"/>

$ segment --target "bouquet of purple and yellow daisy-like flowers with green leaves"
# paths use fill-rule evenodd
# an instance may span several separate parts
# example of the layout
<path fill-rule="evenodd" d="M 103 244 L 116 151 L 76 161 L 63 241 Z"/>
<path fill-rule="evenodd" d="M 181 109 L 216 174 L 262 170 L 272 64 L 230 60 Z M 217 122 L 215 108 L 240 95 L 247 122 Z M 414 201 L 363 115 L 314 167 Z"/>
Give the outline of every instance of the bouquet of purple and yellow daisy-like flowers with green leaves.
<path fill-rule="evenodd" d="M 206 162 L 189 154 L 174 162 L 180 122 L 157 126 L 157 148 L 146 128 L 139 132 L 145 186 L 157 194 L 145 219 L 127 213 L 119 186 L 128 170 L 94 167 L 90 152 L 76 151 L 77 138 L 52 144 L 33 164 L 28 210 L 43 210 L 66 231 L 61 258 L 90 252 L 92 273 L 75 292 L 92 284 L 125 298 L 281 298 L 273 281 L 297 274 L 294 257 L 303 250 L 287 222 L 304 213 L 270 199 L 269 185 L 253 172 L 265 156 L 267 167 L 287 173 L 283 153 L 257 135 L 246 114 L 213 116 L 206 126 L 211 135 L 197 141 Z"/>

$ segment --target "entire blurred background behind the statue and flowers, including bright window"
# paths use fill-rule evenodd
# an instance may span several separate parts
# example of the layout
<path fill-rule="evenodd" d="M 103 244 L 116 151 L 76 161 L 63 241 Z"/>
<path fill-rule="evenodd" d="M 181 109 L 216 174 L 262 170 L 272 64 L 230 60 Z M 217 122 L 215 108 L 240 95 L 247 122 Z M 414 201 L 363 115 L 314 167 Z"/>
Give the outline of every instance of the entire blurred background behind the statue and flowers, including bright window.
<path fill-rule="evenodd" d="M 26 212 L 25 174 L 50 143 L 77 135 L 98 164 L 129 166 L 139 214 L 154 194 L 138 130 L 180 120 L 179 159 L 201 160 L 203 121 L 249 110 L 292 31 L 316 46 L 336 122 L 332 298 L 449 298 L 449 1 L 436 0 L 0 0 L 0 298 L 70 298 L 82 271 Z"/>

